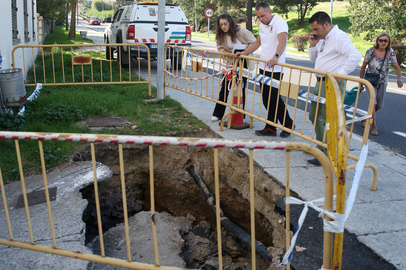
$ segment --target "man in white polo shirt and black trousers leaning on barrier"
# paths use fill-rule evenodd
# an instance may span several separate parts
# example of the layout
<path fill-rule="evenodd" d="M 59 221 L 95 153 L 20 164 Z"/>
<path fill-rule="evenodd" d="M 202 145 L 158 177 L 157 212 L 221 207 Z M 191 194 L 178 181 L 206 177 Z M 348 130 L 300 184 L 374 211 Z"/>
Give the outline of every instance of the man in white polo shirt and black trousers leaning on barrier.
<path fill-rule="evenodd" d="M 248 55 L 252 52 L 255 52 L 262 46 L 261 58 L 269 59 L 265 64 L 259 62 L 259 73 L 263 74 L 265 69 L 265 76 L 272 77 L 274 80 L 282 80 L 284 68 L 276 65 L 276 63 L 285 63 L 285 54 L 286 54 L 286 44 L 287 44 L 287 23 L 284 19 L 272 15 L 272 11 L 268 4 L 265 2 L 259 2 L 255 6 L 255 14 L 257 15 L 261 25 L 259 26 L 259 35 L 257 40 L 248 47 L 244 52 L 237 52 L 235 56 L 238 58 L 240 55 Z M 273 76 L 272 76 L 273 68 Z M 260 84 L 262 90 L 262 103 L 263 106 L 268 110 L 267 120 L 273 123 L 279 123 L 284 127 L 287 127 L 291 130 L 294 129 L 293 121 L 289 117 L 289 112 L 286 111 L 285 116 L 285 103 L 283 102 L 281 96 L 278 98 L 278 88 L 272 87 L 270 91 L 270 86 Z M 268 99 L 270 96 L 270 104 L 268 108 Z M 278 104 L 278 108 L 276 108 Z M 275 120 L 276 113 L 276 120 Z M 274 122 L 275 121 L 275 122 Z M 293 126 L 293 128 L 292 128 Z M 258 136 L 276 136 L 276 127 L 265 124 L 263 130 L 256 130 L 255 134 Z M 289 132 L 282 131 L 279 136 L 286 138 L 290 135 Z"/>

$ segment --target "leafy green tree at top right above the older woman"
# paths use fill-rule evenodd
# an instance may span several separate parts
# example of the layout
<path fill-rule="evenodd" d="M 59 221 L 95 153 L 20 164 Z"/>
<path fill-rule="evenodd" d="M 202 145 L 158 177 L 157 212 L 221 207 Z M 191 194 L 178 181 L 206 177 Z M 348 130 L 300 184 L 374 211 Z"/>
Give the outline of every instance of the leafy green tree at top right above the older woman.
<path fill-rule="evenodd" d="M 405 0 L 350 0 L 347 9 L 350 30 L 355 36 L 367 32 L 364 38 L 367 41 L 373 41 L 381 30 L 400 40 L 405 36 L 406 17 L 402 16 L 405 9 Z"/>

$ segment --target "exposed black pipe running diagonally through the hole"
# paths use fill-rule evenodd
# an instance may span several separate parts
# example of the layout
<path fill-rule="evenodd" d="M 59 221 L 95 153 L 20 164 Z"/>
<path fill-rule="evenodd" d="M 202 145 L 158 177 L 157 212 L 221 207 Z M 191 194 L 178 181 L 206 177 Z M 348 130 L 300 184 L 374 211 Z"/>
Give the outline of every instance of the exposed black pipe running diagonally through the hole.
<path fill-rule="evenodd" d="M 186 171 L 188 171 L 190 175 L 192 175 L 193 180 L 196 182 L 197 186 L 199 186 L 201 192 L 203 193 L 203 196 L 205 197 L 210 208 L 212 209 L 214 216 L 216 216 L 216 200 L 214 199 L 212 194 L 210 194 L 210 191 L 206 187 L 203 179 L 201 179 L 199 175 L 197 175 L 194 172 L 193 165 L 187 167 Z M 234 222 L 229 220 L 229 218 L 227 218 L 227 216 L 224 215 L 221 209 L 220 209 L 220 224 L 226 227 L 229 231 L 231 231 L 231 233 L 233 233 L 242 242 L 244 242 L 248 246 L 251 246 L 251 235 L 246 233 L 246 231 L 244 231 L 243 229 L 235 225 Z M 272 262 L 272 255 L 268 252 L 268 247 L 259 242 L 257 239 L 255 239 L 255 251 L 267 261 Z"/>

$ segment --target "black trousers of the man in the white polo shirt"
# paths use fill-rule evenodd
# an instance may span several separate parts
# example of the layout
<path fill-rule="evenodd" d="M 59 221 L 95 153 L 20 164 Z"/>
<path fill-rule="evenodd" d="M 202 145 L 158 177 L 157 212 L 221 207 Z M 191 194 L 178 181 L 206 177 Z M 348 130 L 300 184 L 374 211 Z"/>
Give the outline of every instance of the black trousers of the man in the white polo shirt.
<path fill-rule="evenodd" d="M 263 69 L 259 69 L 259 73 L 263 75 Z M 265 71 L 265 76 L 271 78 L 272 72 L 270 71 Z M 273 79 L 275 80 L 282 80 L 283 78 L 283 73 L 281 76 L 281 72 L 274 72 Z M 262 84 L 260 83 L 259 86 L 262 89 Z M 268 110 L 268 98 L 269 98 L 269 89 L 271 88 L 271 97 L 270 97 L 270 104 L 269 104 L 269 110 Z M 279 102 L 278 102 L 279 100 Z M 278 102 L 278 108 L 276 108 L 276 102 Z M 274 123 L 279 123 L 283 125 L 283 117 L 285 115 L 285 102 L 283 102 L 282 97 L 279 95 L 278 99 L 278 89 L 276 87 L 270 87 L 269 85 L 264 84 L 263 85 L 263 91 L 262 91 L 262 103 L 263 106 L 268 110 L 268 121 L 273 122 L 275 119 L 275 112 L 276 112 L 276 120 Z M 286 111 L 286 119 L 285 119 L 285 125 L 284 127 L 291 128 L 293 125 L 293 121 L 289 116 L 289 112 Z M 272 125 L 265 124 L 265 128 L 270 128 L 271 130 L 276 130 L 276 127 Z"/>

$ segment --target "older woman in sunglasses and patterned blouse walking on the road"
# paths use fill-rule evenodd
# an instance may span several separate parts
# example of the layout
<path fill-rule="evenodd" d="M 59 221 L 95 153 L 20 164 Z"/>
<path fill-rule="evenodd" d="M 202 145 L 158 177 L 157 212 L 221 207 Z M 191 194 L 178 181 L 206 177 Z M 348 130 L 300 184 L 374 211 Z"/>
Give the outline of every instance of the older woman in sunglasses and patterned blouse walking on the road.
<path fill-rule="evenodd" d="M 375 106 L 374 110 L 372 111 L 371 135 L 377 136 L 378 129 L 376 127 L 376 111 L 383 107 L 386 87 L 388 85 L 388 72 L 390 65 L 392 65 L 396 71 L 397 87 L 403 86 L 402 73 L 400 66 L 397 63 L 395 52 L 391 48 L 391 37 L 389 37 L 388 33 L 380 33 L 376 38 L 374 46 L 369 48 L 365 53 L 364 62 L 361 66 L 361 71 L 359 74 L 360 78 L 364 78 L 365 67 L 367 65 L 368 73 L 379 74 L 380 76 L 378 85 L 373 86 L 375 91 Z M 369 91 L 366 91 L 366 93 L 369 99 Z M 365 120 L 361 121 L 361 125 L 365 127 Z"/>

